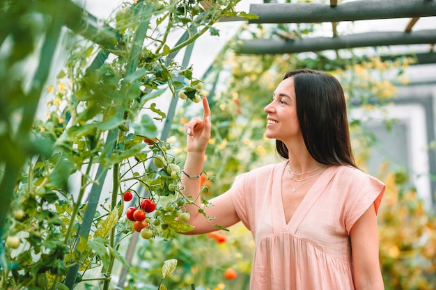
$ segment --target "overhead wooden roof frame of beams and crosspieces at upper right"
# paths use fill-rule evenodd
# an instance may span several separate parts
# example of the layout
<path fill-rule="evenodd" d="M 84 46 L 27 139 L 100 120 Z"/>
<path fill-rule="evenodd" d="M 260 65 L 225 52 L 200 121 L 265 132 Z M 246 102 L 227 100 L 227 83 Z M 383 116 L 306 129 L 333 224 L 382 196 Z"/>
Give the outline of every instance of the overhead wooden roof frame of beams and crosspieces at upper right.
<path fill-rule="evenodd" d="M 235 47 L 238 54 L 292 54 L 328 49 L 428 44 L 426 56 L 418 59 L 424 63 L 436 63 L 436 30 L 412 31 L 421 17 L 436 16 L 435 0 L 357 0 L 346 3 L 331 0 L 329 4 L 263 3 L 251 4 L 249 13 L 258 16 L 258 19 L 249 20 L 249 24 L 331 22 L 332 37 L 302 39 L 295 38 L 295 35 L 279 35 L 279 38 L 275 39 L 240 39 Z M 394 18 L 410 18 L 403 32 L 380 31 L 338 35 L 336 29 L 338 22 L 342 21 Z"/>

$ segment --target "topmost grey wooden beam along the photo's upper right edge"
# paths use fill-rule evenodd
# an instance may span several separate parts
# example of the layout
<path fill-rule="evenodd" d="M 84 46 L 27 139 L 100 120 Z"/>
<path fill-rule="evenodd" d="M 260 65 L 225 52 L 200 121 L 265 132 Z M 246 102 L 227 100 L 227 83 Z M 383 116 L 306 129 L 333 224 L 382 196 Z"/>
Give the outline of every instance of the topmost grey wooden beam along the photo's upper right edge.
<path fill-rule="evenodd" d="M 320 23 L 367 19 L 436 16 L 436 1 L 359 0 L 329 6 L 318 3 L 251 4 L 249 13 L 258 15 L 249 23 Z"/>

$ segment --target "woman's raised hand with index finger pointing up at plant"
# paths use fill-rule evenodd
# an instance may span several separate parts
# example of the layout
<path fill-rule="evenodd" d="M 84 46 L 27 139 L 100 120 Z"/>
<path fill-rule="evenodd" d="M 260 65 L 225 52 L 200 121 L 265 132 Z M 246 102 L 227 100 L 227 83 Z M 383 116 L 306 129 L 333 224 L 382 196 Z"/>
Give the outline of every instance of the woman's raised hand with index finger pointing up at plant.
<path fill-rule="evenodd" d="M 203 119 L 192 118 L 185 124 L 187 152 L 204 153 L 210 139 L 210 108 L 208 99 L 203 97 Z"/>

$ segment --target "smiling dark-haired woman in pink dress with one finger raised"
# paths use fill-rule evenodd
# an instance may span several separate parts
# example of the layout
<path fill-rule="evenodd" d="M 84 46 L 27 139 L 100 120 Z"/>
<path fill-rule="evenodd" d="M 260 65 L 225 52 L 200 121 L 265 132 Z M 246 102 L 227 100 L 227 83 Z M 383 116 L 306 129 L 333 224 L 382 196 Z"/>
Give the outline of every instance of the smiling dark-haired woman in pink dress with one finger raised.
<path fill-rule="evenodd" d="M 204 97 L 203 107 L 203 119 L 185 124 L 186 195 L 201 187 L 210 138 Z M 187 207 L 195 226 L 189 234 L 242 221 L 256 242 L 251 290 L 384 289 L 377 210 L 385 186 L 355 166 L 341 84 L 324 72 L 288 72 L 265 113 L 265 135 L 286 160 L 238 176 L 210 200 L 212 223 Z"/>

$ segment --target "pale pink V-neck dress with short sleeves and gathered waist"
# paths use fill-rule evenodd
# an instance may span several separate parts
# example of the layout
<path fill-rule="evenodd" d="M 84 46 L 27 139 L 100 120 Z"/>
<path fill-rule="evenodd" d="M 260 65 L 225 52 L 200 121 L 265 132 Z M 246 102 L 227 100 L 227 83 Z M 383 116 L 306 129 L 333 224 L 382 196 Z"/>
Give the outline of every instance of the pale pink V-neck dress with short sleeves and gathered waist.
<path fill-rule="evenodd" d="M 236 177 L 231 194 L 256 250 L 250 290 L 350 290 L 350 229 L 385 185 L 350 166 L 329 166 L 286 224 L 281 177 L 287 161 Z M 291 194 L 291 193 L 290 193 Z"/>

